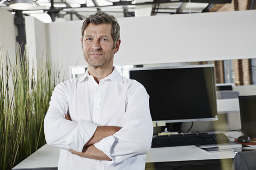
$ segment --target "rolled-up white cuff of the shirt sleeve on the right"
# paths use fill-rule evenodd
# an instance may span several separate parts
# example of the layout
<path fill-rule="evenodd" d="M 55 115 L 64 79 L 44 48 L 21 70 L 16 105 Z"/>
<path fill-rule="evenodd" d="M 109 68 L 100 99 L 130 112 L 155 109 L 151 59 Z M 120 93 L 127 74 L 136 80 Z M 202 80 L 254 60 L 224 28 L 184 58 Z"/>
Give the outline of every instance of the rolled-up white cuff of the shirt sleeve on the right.
<path fill-rule="evenodd" d="M 115 160 L 114 156 L 111 156 L 111 148 L 113 146 L 115 142 L 115 137 L 113 137 L 113 135 L 108 136 L 106 138 L 101 139 L 99 142 L 94 143 L 93 145 L 101 150 L 105 155 L 107 155 L 110 159 L 112 159 L 111 161 L 108 161 L 109 165 L 112 164 L 118 164 L 121 162 L 121 160 Z"/>

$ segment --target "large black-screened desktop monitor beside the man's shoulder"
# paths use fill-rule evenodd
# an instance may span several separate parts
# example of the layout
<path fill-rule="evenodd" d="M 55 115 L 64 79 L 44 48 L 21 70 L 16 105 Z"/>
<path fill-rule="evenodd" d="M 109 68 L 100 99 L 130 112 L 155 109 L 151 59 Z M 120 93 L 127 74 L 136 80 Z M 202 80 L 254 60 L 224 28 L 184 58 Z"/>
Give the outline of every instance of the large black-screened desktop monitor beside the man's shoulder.
<path fill-rule="evenodd" d="M 218 120 L 213 64 L 140 67 L 129 73 L 146 88 L 156 123 Z"/>

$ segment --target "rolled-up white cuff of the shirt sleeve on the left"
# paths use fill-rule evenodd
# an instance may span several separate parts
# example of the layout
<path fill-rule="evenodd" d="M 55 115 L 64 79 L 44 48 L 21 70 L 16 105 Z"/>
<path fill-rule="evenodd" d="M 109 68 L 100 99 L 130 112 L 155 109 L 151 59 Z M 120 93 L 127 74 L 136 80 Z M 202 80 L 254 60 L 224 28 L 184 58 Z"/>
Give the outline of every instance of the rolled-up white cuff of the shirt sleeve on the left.
<path fill-rule="evenodd" d="M 82 152 L 85 143 L 87 143 L 97 129 L 97 125 L 81 120 L 75 130 L 67 138 L 66 142 L 70 149 Z"/>

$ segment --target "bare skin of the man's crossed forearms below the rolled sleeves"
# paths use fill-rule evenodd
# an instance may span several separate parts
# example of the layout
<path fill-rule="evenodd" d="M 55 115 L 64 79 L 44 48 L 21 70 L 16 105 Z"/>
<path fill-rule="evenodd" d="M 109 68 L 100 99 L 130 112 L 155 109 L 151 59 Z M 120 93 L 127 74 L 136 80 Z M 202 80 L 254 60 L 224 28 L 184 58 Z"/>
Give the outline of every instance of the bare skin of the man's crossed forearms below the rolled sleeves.
<path fill-rule="evenodd" d="M 71 121 L 69 114 L 65 114 L 66 120 Z M 71 154 L 78 155 L 84 158 L 97 159 L 97 160 L 111 160 L 106 154 L 101 150 L 97 149 L 93 144 L 99 142 L 101 139 L 113 135 L 121 128 L 118 126 L 98 126 L 92 138 L 85 143 L 82 152 L 77 152 L 75 150 L 69 150 Z"/>

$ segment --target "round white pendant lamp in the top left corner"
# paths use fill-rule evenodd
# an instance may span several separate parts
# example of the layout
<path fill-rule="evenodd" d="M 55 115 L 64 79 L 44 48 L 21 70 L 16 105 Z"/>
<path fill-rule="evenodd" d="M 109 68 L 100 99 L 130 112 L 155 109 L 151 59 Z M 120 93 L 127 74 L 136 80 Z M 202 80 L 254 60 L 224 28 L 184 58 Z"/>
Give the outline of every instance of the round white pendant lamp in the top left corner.
<path fill-rule="evenodd" d="M 10 0 L 9 5 L 13 10 L 28 10 L 33 6 L 33 0 Z"/>

